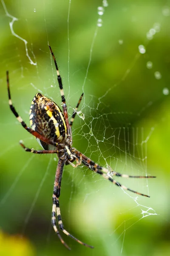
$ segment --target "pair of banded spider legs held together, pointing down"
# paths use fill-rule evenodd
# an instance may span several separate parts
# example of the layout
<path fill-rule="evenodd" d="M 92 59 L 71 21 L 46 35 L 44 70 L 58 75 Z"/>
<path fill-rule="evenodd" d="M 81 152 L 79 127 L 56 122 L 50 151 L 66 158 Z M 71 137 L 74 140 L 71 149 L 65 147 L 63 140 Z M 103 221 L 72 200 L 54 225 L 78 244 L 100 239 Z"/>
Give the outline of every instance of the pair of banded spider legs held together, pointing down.
<path fill-rule="evenodd" d="M 70 233 L 68 233 L 67 230 L 64 229 L 64 226 L 62 224 L 62 218 L 61 218 L 60 208 L 59 208 L 59 195 L 60 195 L 60 187 L 61 187 L 61 180 L 62 180 L 62 170 L 63 170 L 64 164 L 65 164 L 65 161 L 62 160 L 61 158 L 59 158 L 57 170 L 56 170 L 56 177 L 55 177 L 55 181 L 54 181 L 54 194 L 53 194 L 52 225 L 53 225 L 54 231 L 59 236 L 59 239 L 62 242 L 62 244 L 64 244 L 65 247 L 68 248 L 68 246 L 65 244 L 65 242 L 61 239 L 59 232 L 57 230 L 57 227 L 56 227 L 56 215 L 55 215 L 55 210 L 56 210 L 59 228 L 62 230 L 62 232 L 65 233 L 65 235 L 70 236 L 72 239 L 77 241 L 79 244 L 85 245 L 86 247 L 94 248 L 93 246 L 85 244 L 82 241 L 80 241 L 79 239 L 72 236 Z"/>

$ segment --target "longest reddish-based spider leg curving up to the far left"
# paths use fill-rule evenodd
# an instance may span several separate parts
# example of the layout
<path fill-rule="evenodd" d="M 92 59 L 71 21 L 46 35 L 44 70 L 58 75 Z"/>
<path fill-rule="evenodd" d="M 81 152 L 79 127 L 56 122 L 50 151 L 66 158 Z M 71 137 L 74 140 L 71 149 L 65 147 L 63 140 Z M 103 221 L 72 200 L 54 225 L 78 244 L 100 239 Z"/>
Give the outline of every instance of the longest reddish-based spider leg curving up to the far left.
<path fill-rule="evenodd" d="M 15 117 L 17 118 L 17 120 L 21 123 L 21 125 L 23 126 L 24 129 L 26 129 L 26 131 L 28 131 L 30 134 L 34 135 L 36 138 L 42 140 L 45 143 L 48 143 L 50 145 L 54 145 L 54 146 L 59 146 L 59 143 L 56 143 L 54 141 L 48 140 L 45 137 L 43 137 L 41 134 L 39 134 L 37 131 L 32 130 L 30 127 L 28 127 L 26 125 L 26 123 L 23 121 L 23 119 L 21 118 L 21 116 L 19 116 L 19 114 L 17 113 L 17 111 L 15 110 L 13 104 L 12 104 L 12 100 L 11 100 L 11 93 L 10 93 L 10 87 L 9 87 L 9 76 L 8 76 L 8 71 L 6 71 L 6 81 L 7 81 L 7 89 L 8 89 L 8 100 L 9 100 L 9 107 L 12 111 L 12 113 L 15 115 Z"/>

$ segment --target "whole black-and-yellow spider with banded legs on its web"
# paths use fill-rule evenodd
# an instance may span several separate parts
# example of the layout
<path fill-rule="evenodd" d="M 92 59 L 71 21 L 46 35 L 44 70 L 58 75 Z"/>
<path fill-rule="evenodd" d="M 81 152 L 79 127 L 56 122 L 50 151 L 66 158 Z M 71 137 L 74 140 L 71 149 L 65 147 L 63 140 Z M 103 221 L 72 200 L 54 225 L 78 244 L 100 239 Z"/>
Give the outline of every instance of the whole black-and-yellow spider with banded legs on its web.
<path fill-rule="evenodd" d="M 52 226 L 54 228 L 55 233 L 57 233 L 57 236 L 59 237 L 62 244 L 70 250 L 70 247 L 65 243 L 65 241 L 62 239 L 62 237 L 59 234 L 59 230 L 57 229 L 56 224 L 56 213 L 57 213 L 57 219 L 58 219 L 58 225 L 60 230 L 62 230 L 65 235 L 70 236 L 72 239 L 76 240 L 79 244 L 83 244 L 86 247 L 94 248 L 91 245 L 85 244 L 79 239 L 72 236 L 67 230 L 65 230 L 62 218 L 60 214 L 60 208 L 59 208 L 59 195 L 60 195 L 60 187 L 61 187 L 61 180 L 62 180 L 62 171 L 65 165 L 70 164 L 73 167 L 77 167 L 80 164 L 83 164 L 87 166 L 89 169 L 94 171 L 95 173 L 98 173 L 99 175 L 102 175 L 106 180 L 111 181 L 113 184 L 119 186 L 122 189 L 129 190 L 133 193 L 136 193 L 138 195 L 143 195 L 146 197 L 150 197 L 149 195 L 144 195 L 139 192 L 136 192 L 132 189 L 129 189 L 125 187 L 124 185 L 121 185 L 116 180 L 114 180 L 111 175 L 109 174 L 109 169 L 104 168 L 100 166 L 99 164 L 92 161 L 90 158 L 86 157 L 84 154 L 82 154 L 80 151 L 78 151 L 76 148 L 72 147 L 72 136 L 71 136 L 71 128 L 74 122 L 74 118 L 77 114 L 77 109 L 79 107 L 79 104 L 82 100 L 83 93 L 81 97 L 79 98 L 79 101 L 77 103 L 77 106 L 75 108 L 75 111 L 73 112 L 71 116 L 71 121 L 69 123 L 68 121 L 68 113 L 67 113 L 67 106 L 65 103 L 65 96 L 64 96 L 64 90 L 62 87 L 62 79 L 59 74 L 57 61 L 54 57 L 54 53 L 49 45 L 49 49 L 51 52 L 51 55 L 54 59 L 54 64 L 57 71 L 57 80 L 59 84 L 61 99 L 62 99 L 62 110 L 59 108 L 59 106 L 53 102 L 51 99 L 48 99 L 47 97 L 43 96 L 41 93 L 37 93 L 34 96 L 34 99 L 31 102 L 30 112 L 29 112 L 29 119 L 30 119 L 30 125 L 31 128 L 29 128 L 26 123 L 23 121 L 21 116 L 17 113 L 15 110 L 12 100 L 11 100 L 11 93 L 10 93 L 10 87 L 9 87 L 9 76 L 8 71 L 6 71 L 6 78 L 7 78 L 7 88 L 8 88 L 8 102 L 11 111 L 16 116 L 17 120 L 21 123 L 23 128 L 25 128 L 30 134 L 34 135 L 38 141 L 38 143 L 42 146 L 43 150 L 35 150 L 34 148 L 26 148 L 26 146 L 23 144 L 23 141 L 20 141 L 20 145 L 23 147 L 23 149 L 27 152 L 31 152 L 34 154 L 57 154 L 59 160 L 57 164 L 56 174 L 55 174 L 55 180 L 54 180 L 54 191 L 53 191 L 53 206 L 52 206 Z M 76 162 L 74 164 L 74 162 Z M 114 176 L 118 177 L 126 177 L 126 178 L 154 178 L 155 176 L 130 176 L 125 174 L 120 174 L 118 172 L 112 172 L 111 173 Z"/>

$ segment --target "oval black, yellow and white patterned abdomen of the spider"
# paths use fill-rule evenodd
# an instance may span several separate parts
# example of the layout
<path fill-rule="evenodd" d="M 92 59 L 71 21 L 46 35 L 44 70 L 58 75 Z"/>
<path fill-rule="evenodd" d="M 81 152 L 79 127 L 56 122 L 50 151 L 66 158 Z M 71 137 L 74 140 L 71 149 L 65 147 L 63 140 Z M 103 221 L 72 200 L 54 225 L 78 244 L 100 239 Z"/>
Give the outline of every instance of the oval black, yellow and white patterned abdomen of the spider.
<path fill-rule="evenodd" d="M 67 128 L 61 109 L 41 93 L 37 93 L 31 102 L 29 118 L 31 128 L 45 138 L 61 142 L 67 137 Z M 41 140 L 38 142 L 45 150 L 54 148 Z"/>

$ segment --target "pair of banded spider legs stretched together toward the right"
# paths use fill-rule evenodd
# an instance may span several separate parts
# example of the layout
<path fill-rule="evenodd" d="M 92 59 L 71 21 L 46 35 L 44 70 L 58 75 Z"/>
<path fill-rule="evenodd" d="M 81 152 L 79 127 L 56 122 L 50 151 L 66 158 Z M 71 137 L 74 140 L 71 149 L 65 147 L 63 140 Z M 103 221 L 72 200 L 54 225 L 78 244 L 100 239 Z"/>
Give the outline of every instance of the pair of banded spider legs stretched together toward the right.
<path fill-rule="evenodd" d="M 137 191 L 134 191 L 132 189 L 129 189 L 127 188 L 126 186 L 124 185 L 121 185 L 119 182 L 117 182 L 116 180 L 114 180 L 111 175 L 108 175 L 109 173 L 109 169 L 107 168 L 103 168 L 102 166 L 99 166 L 97 163 L 94 163 L 94 161 L 92 161 L 90 158 L 86 157 L 84 154 L 80 153 L 77 149 L 75 148 L 71 148 L 71 151 L 74 152 L 74 154 L 80 158 L 80 155 L 82 157 L 82 163 L 87 166 L 89 169 L 93 170 L 94 172 L 102 175 L 106 180 L 110 180 L 113 184 L 121 187 L 122 189 L 126 189 L 128 191 L 131 191 L 135 194 L 138 194 L 138 195 L 143 195 L 143 196 L 146 196 L 146 197 L 150 197 L 149 195 L 144 195 L 142 193 L 139 193 Z M 130 176 L 130 175 L 123 175 L 123 174 L 120 174 L 118 172 L 113 172 L 113 175 L 116 175 L 116 176 L 119 176 L 119 177 L 126 177 L 126 178 L 131 178 L 131 177 L 136 177 L 136 178 L 149 178 L 149 177 L 153 177 L 155 178 L 155 176 Z"/>

